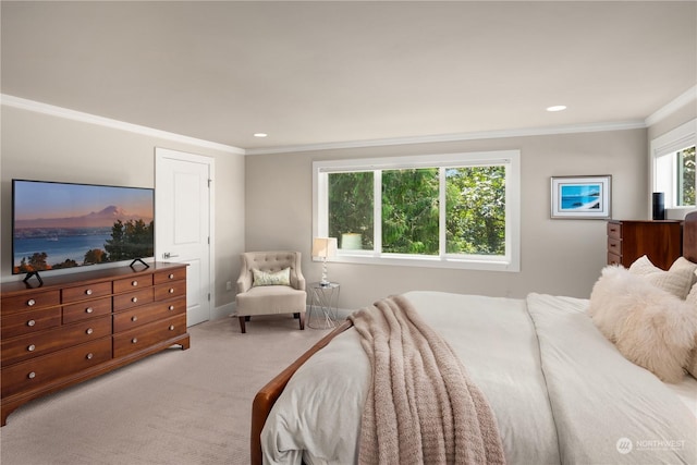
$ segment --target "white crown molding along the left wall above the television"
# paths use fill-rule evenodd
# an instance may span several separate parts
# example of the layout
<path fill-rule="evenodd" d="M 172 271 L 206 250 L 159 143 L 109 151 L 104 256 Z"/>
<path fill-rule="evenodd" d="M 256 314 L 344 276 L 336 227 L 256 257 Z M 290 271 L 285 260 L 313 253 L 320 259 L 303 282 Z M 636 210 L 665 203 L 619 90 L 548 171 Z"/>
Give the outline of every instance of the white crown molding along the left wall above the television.
<path fill-rule="evenodd" d="M 27 100 L 7 94 L 0 94 L 0 103 L 7 107 L 19 108 L 21 110 L 34 111 L 36 113 L 49 114 L 51 117 L 64 118 L 68 120 L 80 121 L 83 123 L 96 124 L 99 126 L 111 127 L 114 130 L 127 131 L 130 133 L 142 134 L 150 137 L 162 138 L 166 140 L 187 144 L 201 148 L 210 148 L 228 154 L 245 155 L 243 148 L 230 145 L 218 144 L 210 140 L 204 140 L 195 137 L 188 137 L 181 134 L 170 133 L 167 131 L 155 130 L 152 127 L 140 126 L 138 124 L 126 123 L 123 121 L 112 120 L 109 118 L 97 117 L 82 111 L 70 110 L 68 108 L 56 107 L 53 105 L 42 103 L 39 101 Z"/>

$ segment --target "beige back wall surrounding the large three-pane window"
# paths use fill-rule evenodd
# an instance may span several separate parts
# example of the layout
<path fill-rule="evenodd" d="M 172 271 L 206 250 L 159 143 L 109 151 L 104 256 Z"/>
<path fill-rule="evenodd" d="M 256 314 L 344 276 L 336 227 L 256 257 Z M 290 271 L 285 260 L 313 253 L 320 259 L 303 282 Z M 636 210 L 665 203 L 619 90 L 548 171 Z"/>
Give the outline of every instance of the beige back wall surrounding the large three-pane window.
<path fill-rule="evenodd" d="M 522 160 L 522 270 L 469 270 L 329 264 L 340 282 L 342 308 L 358 308 L 408 290 L 439 290 L 521 297 L 535 291 L 588 297 L 606 265 L 606 222 L 551 220 L 550 176 L 611 174 L 614 218 L 646 218 L 646 130 L 530 136 L 296 154 L 254 155 L 246 160 L 247 249 L 303 253 L 308 281 L 321 276 L 309 257 L 311 162 L 339 158 L 519 149 Z"/>

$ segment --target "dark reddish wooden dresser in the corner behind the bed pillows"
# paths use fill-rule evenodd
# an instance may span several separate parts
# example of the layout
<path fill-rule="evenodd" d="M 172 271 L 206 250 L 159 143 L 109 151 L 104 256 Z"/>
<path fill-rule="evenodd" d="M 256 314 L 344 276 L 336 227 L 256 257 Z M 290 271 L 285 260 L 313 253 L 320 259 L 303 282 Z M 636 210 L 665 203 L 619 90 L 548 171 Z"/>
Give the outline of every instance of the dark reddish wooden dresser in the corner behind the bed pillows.
<path fill-rule="evenodd" d="M 682 255 L 681 221 L 611 220 L 608 222 L 608 265 L 625 268 L 643 255 L 668 270 Z"/>

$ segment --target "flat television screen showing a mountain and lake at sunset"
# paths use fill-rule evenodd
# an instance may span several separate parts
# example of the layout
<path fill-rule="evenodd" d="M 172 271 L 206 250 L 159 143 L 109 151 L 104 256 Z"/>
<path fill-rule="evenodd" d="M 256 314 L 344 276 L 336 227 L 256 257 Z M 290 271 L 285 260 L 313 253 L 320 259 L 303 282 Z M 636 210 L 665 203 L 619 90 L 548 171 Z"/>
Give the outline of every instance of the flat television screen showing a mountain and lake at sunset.
<path fill-rule="evenodd" d="M 155 255 L 155 191 L 12 180 L 12 273 Z"/>

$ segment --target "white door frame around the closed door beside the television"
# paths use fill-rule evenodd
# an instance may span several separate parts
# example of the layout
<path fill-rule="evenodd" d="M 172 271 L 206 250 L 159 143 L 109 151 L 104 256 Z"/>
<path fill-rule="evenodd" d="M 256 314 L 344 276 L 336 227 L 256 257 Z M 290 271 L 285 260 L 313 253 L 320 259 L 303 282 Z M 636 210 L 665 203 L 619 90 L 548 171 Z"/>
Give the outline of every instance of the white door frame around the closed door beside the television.
<path fill-rule="evenodd" d="M 212 319 L 216 310 L 216 159 L 212 157 L 206 157 L 203 155 L 191 154 L 181 150 L 174 150 L 164 147 L 155 147 L 155 179 L 157 180 L 157 170 L 163 159 L 173 159 L 179 161 L 188 161 L 192 163 L 201 163 L 208 166 L 208 293 L 210 294 L 210 301 L 208 305 L 208 318 Z M 155 183 L 157 189 L 157 183 Z M 156 191 L 157 192 L 157 191 Z M 155 196 L 155 229 L 157 236 L 157 195 Z M 158 249 L 157 241 L 155 242 L 155 257 L 161 259 L 162 249 Z"/>

